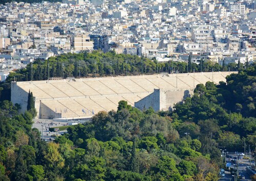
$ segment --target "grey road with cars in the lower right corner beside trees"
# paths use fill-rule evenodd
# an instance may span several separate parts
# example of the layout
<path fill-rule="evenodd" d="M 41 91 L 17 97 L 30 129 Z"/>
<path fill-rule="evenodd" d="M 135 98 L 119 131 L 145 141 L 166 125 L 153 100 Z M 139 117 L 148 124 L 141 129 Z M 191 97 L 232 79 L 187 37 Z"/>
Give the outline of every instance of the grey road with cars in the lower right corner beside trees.
<path fill-rule="evenodd" d="M 234 153 L 233 154 L 229 153 L 229 155 L 238 156 Z M 248 155 L 245 155 L 245 156 L 248 156 Z M 231 165 L 230 167 L 234 168 L 235 163 L 231 163 L 231 161 L 228 158 L 226 158 L 226 163 L 230 163 L 230 165 Z M 252 164 L 254 165 L 254 163 L 251 163 L 251 165 Z M 247 181 L 251 180 L 250 175 L 246 172 L 246 169 L 245 169 L 247 166 L 250 166 L 249 160 L 244 160 L 244 159 L 238 160 L 238 165 L 239 165 L 239 168 L 238 168 L 239 175 L 245 176 L 245 179 L 241 179 L 241 180 L 247 180 Z M 221 177 L 221 179 L 219 179 L 219 181 L 231 181 L 231 180 L 234 180 L 234 176 L 232 176 L 229 171 L 225 171 L 225 176 L 223 176 L 223 177 Z"/>

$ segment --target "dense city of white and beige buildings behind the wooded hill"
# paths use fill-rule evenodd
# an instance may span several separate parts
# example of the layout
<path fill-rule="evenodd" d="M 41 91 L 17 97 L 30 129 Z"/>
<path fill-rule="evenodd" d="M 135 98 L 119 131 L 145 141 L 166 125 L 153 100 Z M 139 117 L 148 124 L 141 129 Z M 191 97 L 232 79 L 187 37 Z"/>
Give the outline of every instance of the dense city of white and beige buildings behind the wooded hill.
<path fill-rule="evenodd" d="M 255 6 L 255 1 L 6 3 L 0 10 L 2 75 L 35 59 L 92 50 L 160 62 L 187 62 L 192 54 L 196 63 L 251 63 Z"/>

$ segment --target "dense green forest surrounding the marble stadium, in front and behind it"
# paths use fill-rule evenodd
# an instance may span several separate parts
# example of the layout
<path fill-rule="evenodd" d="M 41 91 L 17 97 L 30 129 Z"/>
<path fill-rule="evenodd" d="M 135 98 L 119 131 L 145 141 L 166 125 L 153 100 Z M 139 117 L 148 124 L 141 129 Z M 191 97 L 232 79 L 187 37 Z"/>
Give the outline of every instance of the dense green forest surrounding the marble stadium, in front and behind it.
<path fill-rule="evenodd" d="M 54 57 L 33 63 L 33 69 L 64 62 L 68 74 L 71 61 L 75 64 L 84 55 Z M 94 60 L 98 67 L 102 59 L 112 55 L 86 54 L 86 61 L 81 59 L 80 63 L 90 70 Z M 121 69 L 125 56 L 114 57 L 119 58 L 111 58 L 112 73 L 125 74 Z M 138 69 L 141 57 L 131 56 L 127 61 L 129 74 L 133 74 L 131 67 Z M 156 63 L 147 59 L 143 63 L 147 61 L 146 72 L 156 71 Z M 103 67 L 108 64 L 102 62 Z M 177 70 L 178 63 L 170 63 Z M 158 66 L 163 72 L 169 67 L 165 63 Z M 26 78 L 27 69 L 13 73 L 6 84 L 17 74 L 20 80 Z M 252 150 L 256 146 L 256 63 L 226 79 L 219 85 L 198 84 L 194 96 L 176 104 L 173 111 L 140 111 L 120 101 L 116 111 L 101 111 L 92 122 L 70 126 L 68 133 L 50 143 L 40 139 L 37 129 L 31 129 L 29 111 L 19 114 L 19 105 L 3 100 L 0 180 L 218 180 L 220 168 L 225 167 L 220 149 L 243 151 L 244 142 Z M 5 91 L 2 86 L 2 97 Z"/>

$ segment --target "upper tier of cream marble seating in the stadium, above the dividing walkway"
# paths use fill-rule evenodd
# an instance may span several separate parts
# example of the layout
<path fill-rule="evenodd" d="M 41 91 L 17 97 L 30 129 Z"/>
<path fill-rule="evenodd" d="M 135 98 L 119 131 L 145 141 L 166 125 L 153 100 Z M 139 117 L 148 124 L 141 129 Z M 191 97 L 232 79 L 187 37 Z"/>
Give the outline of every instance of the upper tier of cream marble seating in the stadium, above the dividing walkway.
<path fill-rule="evenodd" d="M 223 74 L 223 73 L 222 73 Z M 227 74 L 227 73 L 226 73 Z M 212 81 L 210 73 L 202 75 L 201 73 L 176 74 L 167 76 L 136 76 L 136 77 L 115 77 L 105 79 L 83 79 L 83 81 L 68 82 L 64 81 L 34 81 L 31 84 L 22 84 L 18 86 L 26 92 L 30 89 L 37 99 L 45 98 L 64 98 L 64 97 L 83 97 L 83 96 L 100 96 L 100 95 L 116 95 L 116 94 L 132 94 L 132 93 L 151 93 L 154 88 L 173 89 L 176 88 L 193 88 L 194 77 L 195 86 L 199 83 L 205 84 Z M 225 81 L 226 75 L 214 74 L 214 81 Z"/>

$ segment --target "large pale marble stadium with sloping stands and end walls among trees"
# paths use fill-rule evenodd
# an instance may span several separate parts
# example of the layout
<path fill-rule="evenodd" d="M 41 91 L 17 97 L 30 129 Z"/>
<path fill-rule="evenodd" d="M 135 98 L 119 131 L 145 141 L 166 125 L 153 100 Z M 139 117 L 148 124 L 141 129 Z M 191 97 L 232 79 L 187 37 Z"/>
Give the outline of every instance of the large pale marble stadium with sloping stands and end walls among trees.
<path fill-rule="evenodd" d="M 61 105 L 63 106 L 62 110 L 69 110 L 66 115 L 65 112 L 62 111 L 61 118 L 92 117 L 93 114 L 81 114 L 82 108 L 84 108 L 84 105 L 81 105 L 81 103 L 77 104 L 77 108 L 72 110 L 74 106 L 72 106 L 70 103 L 74 102 L 75 99 L 80 98 L 85 99 L 84 101 L 87 99 L 92 100 L 91 103 L 95 104 L 92 108 L 94 110 L 94 114 L 97 114 L 97 112 L 100 110 L 116 110 L 119 100 L 126 100 L 131 104 L 136 102 L 135 106 L 140 108 L 142 107 L 142 109 L 144 107 L 148 108 L 152 106 L 155 110 L 166 110 L 172 108 L 175 103 L 180 102 L 184 97 L 185 91 L 188 91 L 189 95 L 193 94 L 193 89 L 197 84 L 205 84 L 207 81 L 212 81 L 213 79 L 215 83 L 219 83 L 219 81 L 226 81 L 225 77 L 231 73 L 237 72 L 209 72 L 178 75 L 141 75 L 74 79 L 74 83 L 81 82 L 78 87 L 75 87 L 77 84 L 72 83 L 72 81 L 68 79 L 12 82 L 11 101 L 13 104 L 18 103 L 21 106 L 20 112 L 24 112 L 27 109 L 28 92 L 30 90 L 34 96 L 37 118 L 40 119 L 56 118 L 56 106 L 51 106 L 50 104 L 45 103 L 47 101 L 53 101 L 57 105 L 59 104 L 60 100 L 66 100 L 66 102 L 68 102 Z M 111 81 L 115 84 L 107 84 L 107 82 Z M 178 84 L 176 81 L 178 81 Z M 59 86 L 56 85 L 58 83 Z M 72 94 L 72 89 L 67 92 L 66 90 L 68 88 L 62 88 L 61 86 L 63 83 L 69 84 L 67 87 L 73 87 L 73 90 L 75 88 L 74 92 L 76 92 L 76 95 Z M 129 83 L 131 84 L 129 85 Z M 97 86 L 95 84 L 97 84 Z M 178 85 L 178 88 L 176 87 L 176 84 Z M 122 90 L 119 89 L 120 87 Z M 104 89 L 107 90 L 104 91 Z M 160 92 L 157 93 L 157 90 L 154 92 L 154 89 L 161 90 L 159 90 Z M 83 96 L 80 96 L 81 94 L 77 93 L 77 91 L 79 91 Z M 103 99 L 101 98 L 111 100 L 112 106 L 109 107 L 109 104 L 104 105 L 104 101 L 102 101 Z M 71 115 L 71 112 L 74 112 L 74 115 Z"/>

